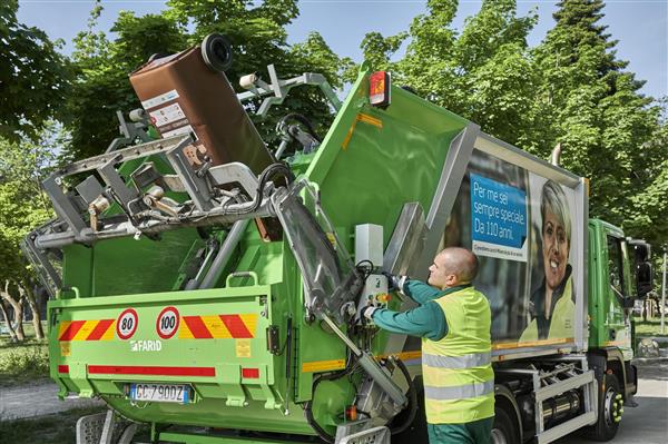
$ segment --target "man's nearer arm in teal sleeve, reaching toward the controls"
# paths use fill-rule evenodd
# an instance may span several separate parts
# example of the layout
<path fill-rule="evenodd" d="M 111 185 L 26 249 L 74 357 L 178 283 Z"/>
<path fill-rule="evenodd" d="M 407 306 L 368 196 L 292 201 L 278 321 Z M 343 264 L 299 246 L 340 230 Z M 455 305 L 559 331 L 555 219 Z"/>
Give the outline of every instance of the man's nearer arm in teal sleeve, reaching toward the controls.
<path fill-rule="evenodd" d="M 371 317 L 375 325 L 393 333 L 442 339 L 448 334 L 448 323 L 441 306 L 436 303 L 424 304 L 407 312 L 375 309 Z"/>

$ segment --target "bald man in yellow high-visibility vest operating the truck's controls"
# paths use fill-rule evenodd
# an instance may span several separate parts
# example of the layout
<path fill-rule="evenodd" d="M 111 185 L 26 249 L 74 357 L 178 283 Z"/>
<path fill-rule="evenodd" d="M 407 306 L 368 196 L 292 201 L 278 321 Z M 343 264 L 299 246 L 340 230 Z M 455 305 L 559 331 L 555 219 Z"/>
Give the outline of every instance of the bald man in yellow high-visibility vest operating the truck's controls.
<path fill-rule="evenodd" d="M 399 313 L 373 306 L 362 316 L 380 328 L 422 337 L 422 376 L 431 444 L 488 444 L 494 417 L 491 310 L 473 288 L 478 258 L 445 248 L 428 284 L 391 276 L 391 285 L 419 307 Z"/>

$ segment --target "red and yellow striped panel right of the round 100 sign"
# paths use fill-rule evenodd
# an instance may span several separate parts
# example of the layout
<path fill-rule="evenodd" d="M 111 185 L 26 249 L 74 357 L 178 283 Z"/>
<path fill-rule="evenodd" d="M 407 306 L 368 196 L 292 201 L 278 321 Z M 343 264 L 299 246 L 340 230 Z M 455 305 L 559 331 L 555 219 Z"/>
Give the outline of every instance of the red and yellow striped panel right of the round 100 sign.
<path fill-rule="evenodd" d="M 178 327 L 180 339 L 252 339 L 257 314 L 184 316 Z"/>

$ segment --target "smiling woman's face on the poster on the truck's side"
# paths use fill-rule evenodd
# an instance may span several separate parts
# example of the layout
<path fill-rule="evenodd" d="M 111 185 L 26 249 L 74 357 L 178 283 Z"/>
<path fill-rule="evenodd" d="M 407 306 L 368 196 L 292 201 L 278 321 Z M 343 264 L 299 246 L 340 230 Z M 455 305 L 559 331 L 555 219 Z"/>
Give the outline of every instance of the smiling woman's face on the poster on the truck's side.
<path fill-rule="evenodd" d="M 546 284 L 554 289 L 566 276 L 569 245 L 562 221 L 549 209 L 543 220 L 542 250 Z"/>

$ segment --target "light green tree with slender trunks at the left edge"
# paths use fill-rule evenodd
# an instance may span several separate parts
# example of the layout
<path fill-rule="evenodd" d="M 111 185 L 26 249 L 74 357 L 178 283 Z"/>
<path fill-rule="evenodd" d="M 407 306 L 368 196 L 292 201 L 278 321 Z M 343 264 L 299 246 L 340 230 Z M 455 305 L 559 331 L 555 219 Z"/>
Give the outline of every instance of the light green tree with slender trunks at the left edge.
<path fill-rule="evenodd" d="M 60 129 L 53 122 L 46 126 L 37 142 L 26 137 L 19 142 L 0 138 L 0 257 L 3 262 L 0 298 L 13 309 L 18 341 L 24 338 L 23 302 L 32 310 L 37 337 L 43 337 L 32 292 L 32 270 L 23 262 L 19 244 L 33 227 L 52 216 L 40 182 L 52 169 L 56 147 L 61 145 Z"/>

